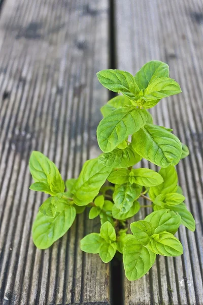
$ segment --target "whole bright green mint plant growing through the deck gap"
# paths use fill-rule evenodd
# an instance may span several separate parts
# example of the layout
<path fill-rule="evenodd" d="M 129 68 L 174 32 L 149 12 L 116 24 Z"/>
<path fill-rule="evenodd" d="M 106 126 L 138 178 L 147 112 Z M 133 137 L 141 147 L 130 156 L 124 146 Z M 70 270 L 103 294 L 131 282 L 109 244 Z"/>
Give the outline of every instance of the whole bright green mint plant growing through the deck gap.
<path fill-rule="evenodd" d="M 189 150 L 172 129 L 154 125 L 147 110 L 181 89 L 169 77 L 168 66 L 157 60 L 144 65 L 135 76 L 103 70 L 97 77 L 106 88 L 122 94 L 101 107 L 104 118 L 97 139 L 103 153 L 86 161 L 79 177 L 64 184 L 54 163 L 39 151 L 32 152 L 29 168 L 35 182 L 30 189 L 50 195 L 39 208 L 32 237 L 38 248 L 46 249 L 69 230 L 77 214 L 90 208 L 89 218 L 100 218 L 100 233 L 85 236 L 81 250 L 99 254 L 105 263 L 120 252 L 126 277 L 133 281 L 146 274 L 156 255 L 183 253 L 174 236 L 181 224 L 195 230 L 175 169 Z M 132 168 L 143 158 L 159 166 L 159 172 Z M 129 234 L 129 219 L 139 212 L 140 197 L 150 202 L 142 207 L 154 211 L 144 220 L 132 222 Z"/>

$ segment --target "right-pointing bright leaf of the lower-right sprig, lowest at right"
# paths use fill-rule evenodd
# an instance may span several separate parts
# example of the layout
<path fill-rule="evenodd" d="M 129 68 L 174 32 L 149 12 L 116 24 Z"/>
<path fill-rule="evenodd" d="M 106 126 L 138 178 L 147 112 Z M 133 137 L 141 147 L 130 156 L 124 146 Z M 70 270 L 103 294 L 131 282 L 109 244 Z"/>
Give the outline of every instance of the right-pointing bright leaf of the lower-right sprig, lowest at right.
<path fill-rule="evenodd" d="M 150 249 L 163 256 L 179 256 L 183 254 L 183 246 L 178 238 L 166 231 L 159 234 L 158 239 L 151 239 Z"/>

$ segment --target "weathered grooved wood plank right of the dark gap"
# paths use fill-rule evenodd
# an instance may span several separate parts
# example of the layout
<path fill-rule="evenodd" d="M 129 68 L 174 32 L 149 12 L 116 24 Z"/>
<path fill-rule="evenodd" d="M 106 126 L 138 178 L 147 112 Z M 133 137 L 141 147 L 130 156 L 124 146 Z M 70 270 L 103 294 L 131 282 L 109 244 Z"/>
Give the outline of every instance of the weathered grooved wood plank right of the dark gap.
<path fill-rule="evenodd" d="M 195 233 L 179 229 L 182 257 L 158 257 L 143 279 L 124 279 L 125 304 L 202 304 L 202 2 L 117 0 L 115 10 L 117 68 L 134 74 L 158 59 L 169 64 L 171 77 L 181 84 L 181 95 L 161 101 L 151 112 L 156 124 L 172 127 L 190 148 L 177 170 L 196 220 Z M 139 218 L 144 217 L 141 211 Z"/>

